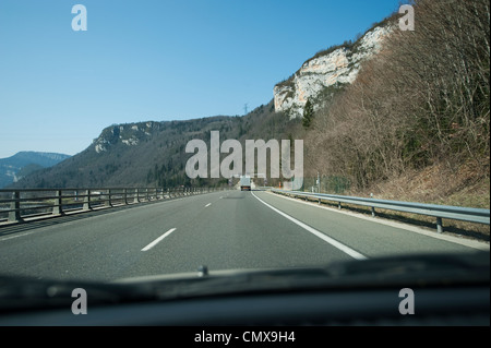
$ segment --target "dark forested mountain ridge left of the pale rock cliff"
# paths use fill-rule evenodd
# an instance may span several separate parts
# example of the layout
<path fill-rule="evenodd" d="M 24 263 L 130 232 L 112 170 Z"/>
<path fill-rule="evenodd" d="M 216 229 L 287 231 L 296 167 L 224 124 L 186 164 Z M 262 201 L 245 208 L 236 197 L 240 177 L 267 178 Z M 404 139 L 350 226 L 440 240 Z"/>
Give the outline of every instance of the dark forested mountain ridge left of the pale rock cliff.
<path fill-rule="evenodd" d="M 227 184 L 226 179 L 190 179 L 185 153 L 191 140 L 208 144 L 211 131 L 227 139 L 288 139 L 296 121 L 274 111 L 273 100 L 243 117 L 216 116 L 185 121 L 112 124 L 82 153 L 26 176 L 16 188 L 115 188 Z M 218 182 L 220 181 L 220 182 Z"/>

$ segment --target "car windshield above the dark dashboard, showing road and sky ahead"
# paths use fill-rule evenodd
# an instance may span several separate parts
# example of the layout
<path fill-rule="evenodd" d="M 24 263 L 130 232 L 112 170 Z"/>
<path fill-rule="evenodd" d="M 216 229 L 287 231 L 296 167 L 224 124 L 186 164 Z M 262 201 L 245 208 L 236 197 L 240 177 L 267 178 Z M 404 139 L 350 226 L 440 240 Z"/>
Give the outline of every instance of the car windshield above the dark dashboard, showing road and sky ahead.
<path fill-rule="evenodd" d="M 328 275 L 371 285 L 489 253 L 489 19 L 484 0 L 2 0 L 0 276 L 360 262 Z"/>

